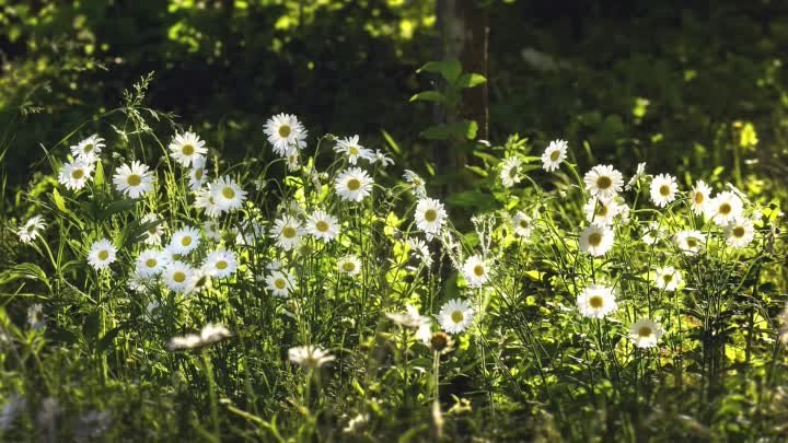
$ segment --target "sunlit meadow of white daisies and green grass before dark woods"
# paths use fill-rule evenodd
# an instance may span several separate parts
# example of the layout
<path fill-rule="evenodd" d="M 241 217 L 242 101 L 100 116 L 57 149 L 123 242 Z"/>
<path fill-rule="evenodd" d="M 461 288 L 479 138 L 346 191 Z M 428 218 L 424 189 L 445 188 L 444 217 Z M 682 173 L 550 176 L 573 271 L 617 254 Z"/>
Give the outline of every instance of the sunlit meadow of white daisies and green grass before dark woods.
<path fill-rule="evenodd" d="M 412 102 L 473 145 L 466 188 L 280 107 L 232 158 L 150 105 L 159 74 L 39 147 L 7 130 L 0 161 L 38 161 L 2 177 L 0 441 L 786 441 L 785 183 L 480 140 L 463 68 L 425 61 Z"/>

